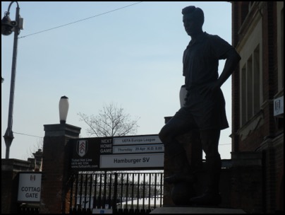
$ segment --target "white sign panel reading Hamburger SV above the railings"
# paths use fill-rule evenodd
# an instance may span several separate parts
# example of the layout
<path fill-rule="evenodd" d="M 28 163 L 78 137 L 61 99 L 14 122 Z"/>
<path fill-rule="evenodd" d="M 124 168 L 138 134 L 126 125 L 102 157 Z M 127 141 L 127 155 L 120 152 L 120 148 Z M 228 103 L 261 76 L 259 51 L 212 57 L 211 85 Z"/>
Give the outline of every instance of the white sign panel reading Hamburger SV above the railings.
<path fill-rule="evenodd" d="M 100 156 L 100 168 L 155 168 L 164 166 L 164 153 Z"/>

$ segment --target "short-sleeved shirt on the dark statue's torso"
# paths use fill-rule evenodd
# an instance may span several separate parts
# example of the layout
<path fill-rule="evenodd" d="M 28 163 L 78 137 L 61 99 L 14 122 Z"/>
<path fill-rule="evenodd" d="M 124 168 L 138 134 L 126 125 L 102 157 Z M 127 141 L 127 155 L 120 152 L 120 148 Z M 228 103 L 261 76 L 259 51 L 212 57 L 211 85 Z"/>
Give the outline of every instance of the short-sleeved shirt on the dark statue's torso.
<path fill-rule="evenodd" d="M 183 76 L 186 89 L 190 90 L 219 78 L 219 59 L 232 49 L 228 42 L 217 35 L 203 33 L 191 40 L 183 53 Z"/>

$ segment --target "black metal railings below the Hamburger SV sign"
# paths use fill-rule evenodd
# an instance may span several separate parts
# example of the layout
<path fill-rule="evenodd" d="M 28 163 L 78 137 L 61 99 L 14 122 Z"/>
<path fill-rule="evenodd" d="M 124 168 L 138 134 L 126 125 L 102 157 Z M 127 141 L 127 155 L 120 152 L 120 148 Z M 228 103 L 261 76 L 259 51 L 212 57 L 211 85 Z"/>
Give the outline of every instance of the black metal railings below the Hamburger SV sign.
<path fill-rule="evenodd" d="M 163 173 L 79 173 L 73 175 L 71 213 L 101 210 L 147 214 L 163 204 Z"/>

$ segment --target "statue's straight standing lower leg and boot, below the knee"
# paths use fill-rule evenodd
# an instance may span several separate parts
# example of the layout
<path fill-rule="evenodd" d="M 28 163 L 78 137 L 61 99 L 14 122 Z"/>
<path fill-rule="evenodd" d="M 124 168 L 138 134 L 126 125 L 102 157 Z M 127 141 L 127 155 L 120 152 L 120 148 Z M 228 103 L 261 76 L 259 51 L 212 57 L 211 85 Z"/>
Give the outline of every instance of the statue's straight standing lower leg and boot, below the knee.
<path fill-rule="evenodd" d="M 217 206 L 221 204 L 222 199 L 219 194 L 219 178 L 221 175 L 221 157 L 206 156 L 207 167 L 207 191 L 199 197 L 190 199 L 190 204 L 199 206 Z"/>

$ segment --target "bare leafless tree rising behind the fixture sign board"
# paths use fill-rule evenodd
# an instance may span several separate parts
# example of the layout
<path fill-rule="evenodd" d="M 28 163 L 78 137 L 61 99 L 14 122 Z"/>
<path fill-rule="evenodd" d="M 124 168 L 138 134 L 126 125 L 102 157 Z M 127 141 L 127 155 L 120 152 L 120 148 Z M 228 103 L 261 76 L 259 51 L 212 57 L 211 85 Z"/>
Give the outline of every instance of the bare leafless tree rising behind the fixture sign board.
<path fill-rule="evenodd" d="M 138 129 L 138 120 L 131 119 L 131 115 L 126 114 L 123 108 L 118 108 L 114 103 L 104 105 L 103 110 L 99 110 L 98 115 L 87 116 L 79 112 L 80 121 L 88 125 L 86 129 L 90 136 L 125 136 L 135 134 Z"/>

